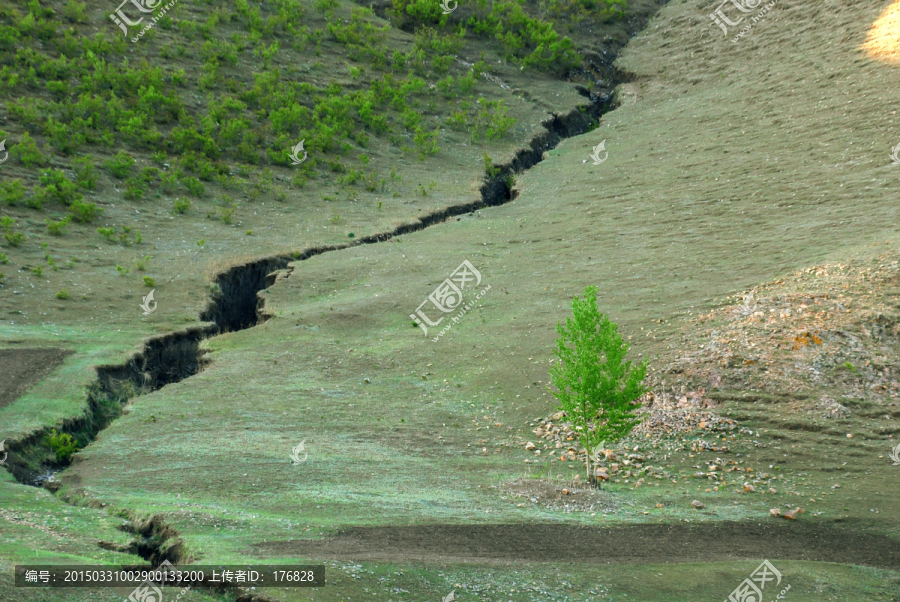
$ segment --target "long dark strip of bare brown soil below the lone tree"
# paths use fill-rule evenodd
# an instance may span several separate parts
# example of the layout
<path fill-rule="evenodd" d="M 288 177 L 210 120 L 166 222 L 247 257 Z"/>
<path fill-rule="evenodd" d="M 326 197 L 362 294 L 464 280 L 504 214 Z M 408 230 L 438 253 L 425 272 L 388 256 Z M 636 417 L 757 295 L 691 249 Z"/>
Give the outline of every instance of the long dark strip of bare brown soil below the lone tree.
<path fill-rule="evenodd" d="M 858 526 L 857 526 L 858 527 Z M 821 522 L 673 523 L 615 528 L 560 524 L 365 527 L 324 540 L 256 544 L 254 555 L 389 562 L 655 564 L 812 560 L 900 569 L 900 541 Z"/>

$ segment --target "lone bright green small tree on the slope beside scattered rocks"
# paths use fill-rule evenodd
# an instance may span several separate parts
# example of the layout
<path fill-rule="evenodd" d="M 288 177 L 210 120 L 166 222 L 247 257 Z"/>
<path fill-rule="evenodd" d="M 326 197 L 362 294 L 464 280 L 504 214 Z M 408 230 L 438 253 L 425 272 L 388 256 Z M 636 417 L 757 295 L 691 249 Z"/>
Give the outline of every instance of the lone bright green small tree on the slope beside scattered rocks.
<path fill-rule="evenodd" d="M 644 386 L 647 364 L 632 366 L 626 360 L 628 343 L 619 327 L 597 310 L 597 287 L 584 290 L 584 298 L 572 301 L 572 317 L 556 325 L 556 355 L 550 368 L 558 389 L 559 409 L 572 420 L 586 450 L 588 480 L 592 456 L 607 441 L 617 441 L 640 420 L 634 401 L 648 389 Z"/>

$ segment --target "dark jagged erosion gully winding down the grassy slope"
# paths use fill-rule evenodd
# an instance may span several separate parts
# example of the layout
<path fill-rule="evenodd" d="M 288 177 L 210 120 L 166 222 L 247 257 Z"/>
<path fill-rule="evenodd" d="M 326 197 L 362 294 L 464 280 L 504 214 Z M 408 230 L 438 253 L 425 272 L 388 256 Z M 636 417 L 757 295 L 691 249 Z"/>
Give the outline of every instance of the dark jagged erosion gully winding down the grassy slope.
<path fill-rule="evenodd" d="M 649 15 L 639 19 L 638 23 L 631 24 L 634 33 L 643 27 L 647 18 Z M 596 127 L 604 113 L 615 108 L 614 89 L 630 78 L 612 66 L 614 53 L 610 52 L 608 58 L 594 54 L 596 59 L 590 59 L 590 54 L 588 56 L 592 63 L 591 71 L 594 75 L 600 73 L 604 83 L 608 84 L 604 92 L 591 94 L 587 89 L 576 86 L 578 92 L 588 102 L 564 114 L 551 114 L 550 118 L 542 123 L 543 130 L 535 135 L 525 148 L 517 150 L 507 163 L 493 166 L 493 173 L 485 173 L 479 198 L 446 207 L 391 231 L 366 236 L 352 243 L 320 246 L 308 248 L 301 253 L 265 257 L 231 267 L 218 274 L 215 277 L 218 291 L 200 315 L 203 324 L 150 338 L 145 341 L 140 352 L 122 364 L 97 366 L 97 378 L 88 387 L 84 413 L 66 419 L 61 424 L 34 431 L 22 438 L 8 439 L 6 449 L 9 457 L 5 465 L 7 470 L 22 484 L 45 487 L 51 491 L 58 490 L 59 483 L 54 479 L 54 475 L 68 467 L 70 461 L 55 459 L 47 443 L 51 430 L 71 435 L 83 448 L 121 415 L 122 408 L 129 400 L 197 374 L 206 363 L 203 358 L 204 351 L 201 349 L 203 340 L 221 332 L 252 328 L 267 319 L 264 302 L 258 293 L 274 284 L 276 272 L 287 268 L 291 262 L 359 245 L 385 242 L 397 236 L 424 230 L 457 215 L 472 213 L 485 207 L 496 207 L 514 200 L 516 191 L 511 187 L 514 174 L 539 163 L 544 153 L 555 148 L 561 140 L 590 131 Z M 75 500 L 65 501 L 75 503 Z M 102 506 L 97 501 L 91 504 Z M 186 558 L 183 554 L 178 533 L 166 526 L 161 517 L 142 518 L 127 510 L 123 510 L 122 514 L 131 519 L 126 521 L 126 525 L 122 527 L 123 531 L 133 534 L 135 539 L 128 546 L 116 546 L 117 551 L 139 555 L 153 566 L 165 560 L 175 564 L 190 561 L 190 558 Z M 103 547 L 110 545 L 101 544 Z M 259 597 L 254 599 L 262 600 Z"/>

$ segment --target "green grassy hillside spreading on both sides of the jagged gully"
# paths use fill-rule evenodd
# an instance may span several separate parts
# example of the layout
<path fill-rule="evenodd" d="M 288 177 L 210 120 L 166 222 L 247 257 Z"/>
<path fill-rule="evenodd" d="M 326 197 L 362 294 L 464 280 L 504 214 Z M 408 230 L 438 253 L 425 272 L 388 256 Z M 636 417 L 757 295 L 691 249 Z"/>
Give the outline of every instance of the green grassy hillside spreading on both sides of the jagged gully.
<path fill-rule="evenodd" d="M 737 41 L 739 30 L 723 36 L 709 19 L 714 3 L 666 4 L 617 62 L 628 80 L 616 91 L 618 108 L 517 175 L 512 202 L 292 263 L 262 294 L 265 323 L 209 339 L 202 372 L 134 397 L 58 476 L 57 497 L 7 478 L 3 507 L 24 512 L 40 500 L 51 516 L 77 508 L 71 537 L 83 537 L 78 553 L 97 560 L 133 558 L 106 551 L 114 545 L 82 551 L 89 537 L 127 541 L 92 523 L 112 527 L 114 513 L 127 511 L 160 516 L 177 531 L 168 545 L 183 559 L 328 562 L 330 587 L 265 592 L 278 600 L 437 599 L 451 590 L 461 600 L 724 599 L 763 558 L 791 584 L 791 600 L 897 599 L 897 467 L 885 458 L 900 432 L 892 384 L 900 357 L 900 167 L 889 157 L 900 143 L 893 102 L 900 71 L 883 45 L 865 46 L 894 4 L 781 0 Z M 41 38 L 44 21 L 90 27 L 39 5 L 4 6 L 9 27 L 24 32 L 22 22 L 32 22 L 35 48 L 73 39 Z M 47 197 L 43 214 L 29 200 L 52 196 L 47 178 L 56 172 L 42 176 L 44 166 L 26 165 L 24 148 L 0 166 L 7 194 L 26 191 L 5 209 L 16 220 L 8 232 L 27 237 L 4 249 L 9 265 L 22 269 L 3 270 L 0 309 L 20 313 L 6 314 L 0 335 L 9 347 L 76 351 L 0 408 L 0 436 L 75 415 L 90 367 L 121 361 L 151 333 L 196 322 L 210 276 L 224 266 L 346 242 L 471 202 L 485 170 L 490 175 L 540 131 L 545 111 L 585 102 L 575 85 L 604 93 L 598 80 L 608 85 L 614 72 L 602 53 L 621 47 L 649 3 L 632 3 L 625 16 L 603 5 L 551 3 L 526 5 L 525 18 L 516 6 L 460 6 L 445 18 L 425 3 L 375 4 L 371 13 L 301 3 L 300 19 L 288 4 L 263 12 L 183 5 L 180 18 L 127 51 L 121 40 L 106 51 L 146 53 L 143 67 L 117 63 L 120 74 L 134 70 L 131 84 L 105 89 L 130 99 L 125 104 L 137 108 L 128 119 L 143 120 L 141 132 L 158 131 L 155 142 L 129 138 L 116 121 L 95 127 L 96 141 L 73 134 L 65 137 L 75 141 L 71 151 L 54 146 L 49 116 L 61 110 L 51 104 L 60 86 L 28 92 L 21 65 L 46 59 L 11 61 L 4 81 L 13 73 L 20 79 L 5 90 L 4 132 L 23 140 L 31 127 L 49 166 L 73 182 L 75 160 L 90 151 L 99 175 L 95 191 L 70 187 L 65 197 L 57 187 L 63 196 Z M 62 25 L 67 18 L 72 23 Z M 531 18 L 554 23 L 560 37 Z M 423 24 L 434 32 L 411 33 Z M 540 46 L 538 34 L 549 41 Z M 562 35 L 572 37 L 571 48 Z M 94 56 L 104 52 L 97 44 Z M 450 60 L 455 53 L 459 60 Z M 75 79 L 98 73 L 86 51 L 71 56 L 84 57 L 72 59 Z M 157 67 L 167 60 L 171 71 Z M 484 66 L 465 65 L 478 60 Z M 177 69 L 185 70 L 183 88 L 171 79 Z M 137 82 L 147 80 L 160 82 L 169 99 L 154 102 L 174 111 L 152 112 L 152 127 L 151 113 L 139 108 Z M 391 96 L 378 97 L 388 87 Z M 300 97 L 306 101 L 296 103 Z M 105 107 L 112 98 L 104 97 Z M 27 122 L 23 107 L 41 102 L 43 121 Z M 240 137 L 223 139 L 223 123 L 235 122 L 243 124 L 234 126 Z M 187 146 L 178 128 L 192 132 L 183 135 Z M 300 139 L 310 158 L 290 169 L 284 152 Z M 589 155 L 601 141 L 609 154 L 595 165 Z M 157 142 L 169 167 L 147 182 Z M 117 179 L 107 162 L 120 151 L 139 161 Z M 225 167 L 209 171 L 216 166 Z M 14 178 L 22 188 L 9 184 Z M 165 178 L 174 178 L 171 188 Z M 175 200 L 190 196 L 190 178 L 205 192 L 173 214 Z M 140 199 L 123 198 L 144 185 Z M 47 216 L 75 216 L 77 203 L 88 202 L 103 213 L 73 221 L 61 237 L 50 234 Z M 108 240 L 97 232 L 106 227 L 114 228 Z M 59 271 L 45 253 L 59 254 Z M 70 254 L 90 260 L 64 267 Z M 151 259 L 141 270 L 145 255 Z M 434 341 L 444 324 L 425 335 L 410 314 L 463 260 L 481 275 L 465 300 L 490 289 Z M 853 270 L 803 271 L 826 263 Z M 873 271 L 877 279 L 865 277 Z M 137 307 L 151 288 L 144 274 L 159 301 L 146 318 Z M 762 333 L 752 330 L 759 318 L 752 312 L 746 323 L 732 320 L 742 311 L 734 296 L 764 282 L 761 311 L 796 312 L 801 299 L 813 299 L 803 301 L 808 309 L 843 294 L 852 299 L 840 299 L 848 322 L 834 317 L 843 314 L 830 301 L 820 324 L 764 313 Z M 636 433 L 615 450 L 630 468 L 600 492 L 574 480 L 582 471 L 577 448 L 534 432 L 541 421 L 564 422 L 551 417 L 553 328 L 590 284 L 633 353 L 649 360 L 661 400 L 702 387 L 691 397 L 697 403 L 681 409 L 734 422 Z M 56 298 L 63 287 L 70 297 Z M 873 320 L 883 329 L 862 336 L 860 328 L 874 331 Z M 861 346 L 852 357 L 839 342 L 848 332 Z M 763 342 L 764 335 L 771 338 Z M 691 353 L 710 341 L 732 352 Z M 791 341 L 778 353 L 756 347 Z M 862 370 L 834 372 L 844 361 Z M 807 366 L 830 372 L 803 380 L 791 366 L 803 375 Z M 814 416 L 825 397 L 849 414 Z M 291 450 L 301 441 L 309 456 L 294 465 Z M 526 450 L 528 441 L 541 453 Z M 723 466 L 731 467 L 726 476 L 712 474 Z M 806 510 L 796 522 L 770 516 L 792 507 Z M 492 530 L 508 524 L 519 525 L 518 535 Z M 607 527 L 621 531 L 573 530 Z M 21 523 L 0 529 L 22 542 L 0 551 L 4 562 L 56 550 L 44 532 L 14 531 Z M 606 543 L 609 533 L 619 539 Z"/>

